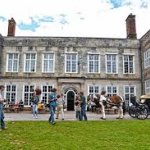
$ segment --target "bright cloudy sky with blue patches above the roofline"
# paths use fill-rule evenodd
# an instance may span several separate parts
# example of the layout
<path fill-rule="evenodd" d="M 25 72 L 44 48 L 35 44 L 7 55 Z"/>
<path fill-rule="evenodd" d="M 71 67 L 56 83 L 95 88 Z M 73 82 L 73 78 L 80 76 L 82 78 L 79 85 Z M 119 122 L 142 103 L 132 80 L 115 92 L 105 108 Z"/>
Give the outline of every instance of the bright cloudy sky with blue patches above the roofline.
<path fill-rule="evenodd" d="M 137 38 L 150 29 L 150 0 L 0 0 L 0 34 L 16 21 L 15 36 L 126 38 L 136 16 Z"/>

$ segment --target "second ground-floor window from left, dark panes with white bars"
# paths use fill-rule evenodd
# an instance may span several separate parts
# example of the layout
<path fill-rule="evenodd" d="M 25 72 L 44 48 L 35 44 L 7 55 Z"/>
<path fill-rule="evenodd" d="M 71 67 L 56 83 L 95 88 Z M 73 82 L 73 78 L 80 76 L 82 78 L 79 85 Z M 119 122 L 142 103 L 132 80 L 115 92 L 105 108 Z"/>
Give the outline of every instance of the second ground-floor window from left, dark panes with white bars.
<path fill-rule="evenodd" d="M 31 105 L 31 98 L 33 97 L 34 85 L 24 86 L 24 105 Z"/>

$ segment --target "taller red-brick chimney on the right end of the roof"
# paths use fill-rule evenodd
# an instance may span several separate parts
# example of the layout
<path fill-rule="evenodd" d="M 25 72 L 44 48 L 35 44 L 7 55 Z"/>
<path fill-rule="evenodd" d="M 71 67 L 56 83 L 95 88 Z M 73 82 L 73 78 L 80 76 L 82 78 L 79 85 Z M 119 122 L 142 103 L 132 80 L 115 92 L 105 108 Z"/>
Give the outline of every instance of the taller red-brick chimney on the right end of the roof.
<path fill-rule="evenodd" d="M 136 22 L 135 22 L 135 15 L 132 13 L 126 19 L 126 32 L 128 39 L 136 39 Z"/>

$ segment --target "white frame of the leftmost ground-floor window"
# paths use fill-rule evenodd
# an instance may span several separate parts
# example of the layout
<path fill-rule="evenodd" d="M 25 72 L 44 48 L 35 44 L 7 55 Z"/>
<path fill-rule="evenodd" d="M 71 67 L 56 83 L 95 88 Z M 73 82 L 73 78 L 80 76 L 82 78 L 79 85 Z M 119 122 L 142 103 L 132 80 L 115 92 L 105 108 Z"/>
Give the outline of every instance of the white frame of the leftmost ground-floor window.
<path fill-rule="evenodd" d="M 7 91 L 7 86 L 10 86 L 10 91 Z M 13 86 L 15 86 L 15 91 L 13 91 Z M 4 97 L 7 100 L 8 103 L 17 102 L 17 85 L 16 84 L 5 84 L 5 94 Z M 9 97 L 7 97 L 7 94 L 10 94 Z"/>

